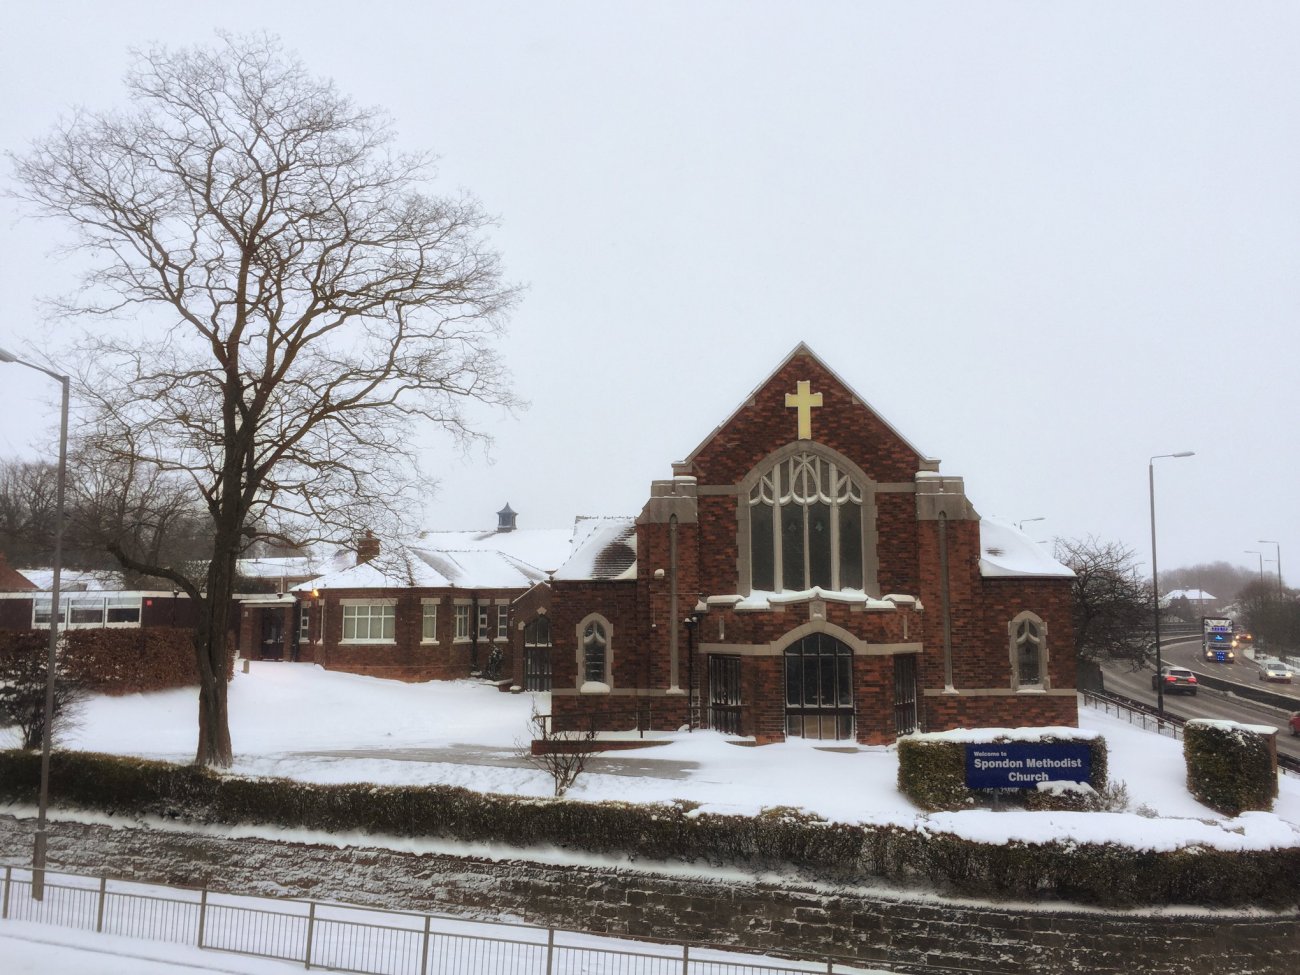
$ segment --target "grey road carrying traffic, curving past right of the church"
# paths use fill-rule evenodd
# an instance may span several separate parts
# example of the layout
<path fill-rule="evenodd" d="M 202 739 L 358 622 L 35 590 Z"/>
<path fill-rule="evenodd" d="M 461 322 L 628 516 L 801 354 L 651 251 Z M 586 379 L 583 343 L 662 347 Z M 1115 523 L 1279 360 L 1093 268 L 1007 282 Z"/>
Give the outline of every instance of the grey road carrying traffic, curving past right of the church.
<path fill-rule="evenodd" d="M 1165 644 L 1161 656 L 1166 664 L 1187 667 L 1196 673 L 1208 673 L 1221 680 L 1230 680 L 1243 685 L 1260 685 L 1252 660 L 1243 659 L 1235 664 L 1205 663 L 1201 659 L 1200 646 L 1199 640 Z M 1128 670 L 1126 663 L 1113 662 L 1102 664 L 1101 670 L 1105 675 L 1106 690 L 1131 697 L 1135 701 L 1144 701 L 1154 707 L 1156 692 L 1150 689 L 1150 676 L 1154 668 L 1144 668 L 1135 672 Z M 1291 707 L 1291 711 L 1300 711 L 1300 685 L 1270 684 L 1269 689 L 1294 699 L 1295 705 Z M 1280 711 L 1275 707 L 1239 698 L 1230 692 L 1214 690 L 1205 686 L 1200 688 L 1195 697 L 1191 694 L 1165 694 L 1165 711 L 1179 718 L 1216 718 L 1277 728 L 1278 751 L 1300 759 L 1300 738 L 1294 737 L 1291 729 L 1287 727 L 1287 718 L 1291 711 Z"/>

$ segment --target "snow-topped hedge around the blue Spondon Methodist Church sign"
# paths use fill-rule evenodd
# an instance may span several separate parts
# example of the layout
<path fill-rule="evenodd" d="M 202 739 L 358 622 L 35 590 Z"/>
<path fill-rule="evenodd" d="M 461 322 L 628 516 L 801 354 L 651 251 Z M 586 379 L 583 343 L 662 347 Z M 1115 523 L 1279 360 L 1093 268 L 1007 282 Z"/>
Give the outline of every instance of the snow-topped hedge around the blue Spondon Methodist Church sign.
<path fill-rule="evenodd" d="M 1088 785 L 1080 789 L 1006 789 L 1000 802 L 1041 810 L 1101 810 L 1106 807 L 1106 740 L 1078 728 L 978 728 L 898 738 L 898 790 L 931 812 L 988 805 L 991 794 L 966 786 L 966 746 L 1005 742 L 1087 745 Z"/>

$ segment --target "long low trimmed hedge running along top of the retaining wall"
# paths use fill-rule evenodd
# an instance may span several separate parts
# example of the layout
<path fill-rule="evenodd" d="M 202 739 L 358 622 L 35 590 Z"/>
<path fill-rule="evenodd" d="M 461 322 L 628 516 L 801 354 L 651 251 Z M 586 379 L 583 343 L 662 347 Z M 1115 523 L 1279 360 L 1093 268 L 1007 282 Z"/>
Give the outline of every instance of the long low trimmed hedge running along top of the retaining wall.
<path fill-rule="evenodd" d="M 0 801 L 35 802 L 39 776 L 39 755 L 0 751 Z M 1060 897 L 1108 907 L 1300 904 L 1300 848 L 1153 853 L 1115 844 L 992 845 L 897 826 L 827 823 L 788 809 L 734 816 L 702 814 L 685 802 L 585 803 L 441 785 L 311 785 L 69 751 L 53 755 L 51 794 L 58 805 L 117 815 L 797 867 L 841 883 L 926 880 L 978 897 Z"/>

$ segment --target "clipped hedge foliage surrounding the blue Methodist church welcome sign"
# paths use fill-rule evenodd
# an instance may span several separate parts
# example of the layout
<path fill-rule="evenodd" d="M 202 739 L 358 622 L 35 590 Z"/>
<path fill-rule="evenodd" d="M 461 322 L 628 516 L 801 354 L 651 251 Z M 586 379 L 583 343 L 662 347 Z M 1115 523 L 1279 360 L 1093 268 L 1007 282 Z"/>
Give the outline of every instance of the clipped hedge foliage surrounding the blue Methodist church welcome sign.
<path fill-rule="evenodd" d="M 898 738 L 898 790 L 909 800 L 931 812 L 974 809 L 993 802 L 994 793 L 966 786 L 966 746 L 1000 745 L 1015 742 L 1010 734 L 991 733 L 988 738 L 968 741 L 966 736 L 956 737 L 952 732 L 933 734 L 911 734 Z M 1100 734 L 1093 737 L 1041 737 L 1043 744 L 1087 745 L 1091 757 L 1088 785 L 1095 793 L 1106 790 L 1109 758 L 1106 740 Z M 1079 793 L 1054 794 L 1034 789 L 1001 789 L 996 797 L 1000 802 L 1028 806 L 1036 810 L 1079 810 L 1087 809 Z M 1092 797 L 1095 801 L 1096 798 Z"/>

